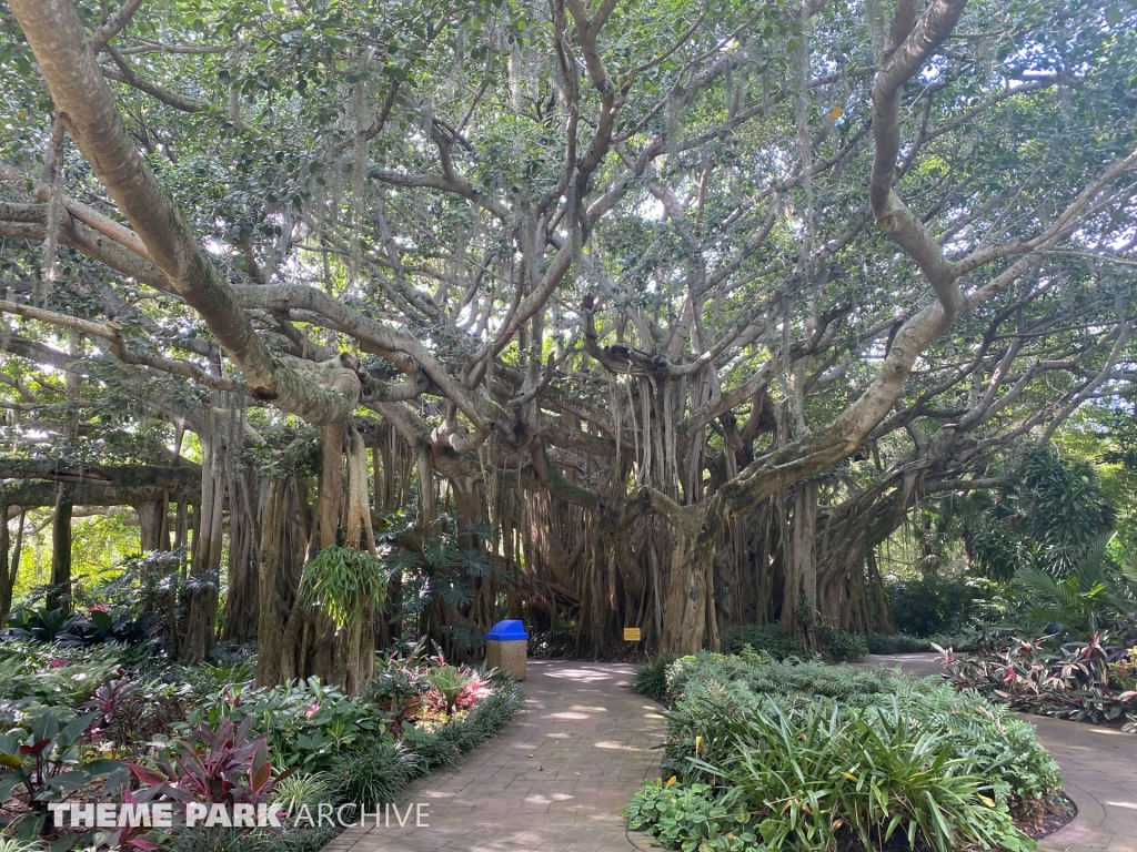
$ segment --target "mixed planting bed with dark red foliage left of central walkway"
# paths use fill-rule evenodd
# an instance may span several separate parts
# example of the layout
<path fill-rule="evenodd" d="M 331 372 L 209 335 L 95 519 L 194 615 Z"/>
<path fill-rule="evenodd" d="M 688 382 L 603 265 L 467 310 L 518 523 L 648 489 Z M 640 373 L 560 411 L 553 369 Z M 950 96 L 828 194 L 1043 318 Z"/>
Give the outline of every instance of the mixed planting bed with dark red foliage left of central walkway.
<path fill-rule="evenodd" d="M 380 657 L 358 698 L 315 678 L 252 687 L 254 660 L 183 666 L 140 645 L 0 644 L 0 801 L 25 852 L 307 852 L 319 805 L 392 802 L 413 778 L 493 736 L 521 696 L 441 658 Z M 264 803 L 288 830 L 44 829 L 51 801 Z M 345 813 L 345 817 L 350 817 Z M 316 825 L 312 825 L 316 822 Z M 3 849 L 0 846 L 0 849 Z"/>

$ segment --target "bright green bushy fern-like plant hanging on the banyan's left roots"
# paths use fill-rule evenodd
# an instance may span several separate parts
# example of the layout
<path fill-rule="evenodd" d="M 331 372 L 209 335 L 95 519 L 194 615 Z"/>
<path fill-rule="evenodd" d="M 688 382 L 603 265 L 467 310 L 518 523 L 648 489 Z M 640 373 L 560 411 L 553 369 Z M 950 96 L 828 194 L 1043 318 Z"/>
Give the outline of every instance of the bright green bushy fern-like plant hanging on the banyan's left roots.
<path fill-rule="evenodd" d="M 385 593 L 383 562 L 367 551 L 333 545 L 304 566 L 301 599 L 323 609 L 338 627 L 362 624 L 383 605 Z"/>

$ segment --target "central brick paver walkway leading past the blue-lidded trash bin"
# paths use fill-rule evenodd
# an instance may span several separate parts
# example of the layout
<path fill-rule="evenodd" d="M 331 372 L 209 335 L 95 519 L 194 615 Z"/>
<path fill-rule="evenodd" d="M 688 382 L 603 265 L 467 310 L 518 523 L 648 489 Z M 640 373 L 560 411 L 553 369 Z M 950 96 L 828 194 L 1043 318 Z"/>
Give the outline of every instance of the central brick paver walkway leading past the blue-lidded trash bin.
<path fill-rule="evenodd" d="M 631 852 L 621 809 L 658 774 L 659 705 L 631 666 L 530 660 L 525 705 L 499 737 L 408 787 L 429 827 L 349 828 L 325 852 Z"/>

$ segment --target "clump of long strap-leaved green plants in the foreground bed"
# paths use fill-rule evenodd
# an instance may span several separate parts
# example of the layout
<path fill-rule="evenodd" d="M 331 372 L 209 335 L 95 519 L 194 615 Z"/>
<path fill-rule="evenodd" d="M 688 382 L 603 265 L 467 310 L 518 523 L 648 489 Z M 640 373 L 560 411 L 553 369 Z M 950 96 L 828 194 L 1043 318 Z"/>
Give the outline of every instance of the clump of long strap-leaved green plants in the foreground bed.
<path fill-rule="evenodd" d="M 733 757 L 703 766 L 730 783 L 724 801 L 753 813 L 772 849 L 848 835 L 871 847 L 873 836 L 880 844 L 896 834 L 936 852 L 1034 846 L 1005 807 L 980 797 L 985 782 L 955 757 L 951 735 L 898 704 L 841 715 L 822 701 L 789 711 L 767 702 L 747 717 Z"/>

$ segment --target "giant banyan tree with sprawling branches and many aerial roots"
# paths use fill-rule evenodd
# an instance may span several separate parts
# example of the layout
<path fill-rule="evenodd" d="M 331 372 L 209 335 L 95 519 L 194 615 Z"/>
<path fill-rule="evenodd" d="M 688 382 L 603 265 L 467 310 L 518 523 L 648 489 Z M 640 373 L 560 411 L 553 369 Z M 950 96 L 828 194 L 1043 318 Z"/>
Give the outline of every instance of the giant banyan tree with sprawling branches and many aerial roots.
<path fill-rule="evenodd" d="M 914 508 L 1130 390 L 1127 9 L 7 0 L 0 392 L 197 436 L 126 502 L 192 503 L 182 652 L 262 683 L 366 678 L 392 550 L 484 561 L 421 613 L 457 653 L 887 632 Z M 338 617 L 332 563 L 393 587 Z"/>

